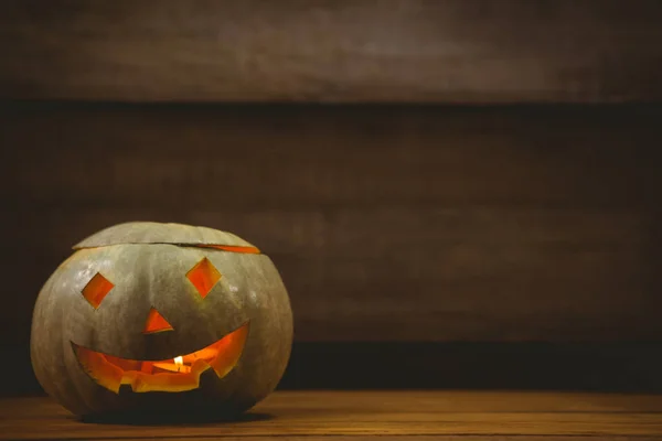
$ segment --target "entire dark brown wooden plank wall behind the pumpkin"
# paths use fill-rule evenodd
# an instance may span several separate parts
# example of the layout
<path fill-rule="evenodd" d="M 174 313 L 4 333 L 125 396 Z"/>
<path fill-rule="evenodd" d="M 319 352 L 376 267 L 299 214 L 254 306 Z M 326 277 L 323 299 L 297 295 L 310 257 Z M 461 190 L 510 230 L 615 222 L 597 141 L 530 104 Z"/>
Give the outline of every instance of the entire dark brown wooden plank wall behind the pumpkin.
<path fill-rule="evenodd" d="M 32 305 L 70 247 L 151 219 L 273 257 L 288 385 L 662 388 L 660 18 L 652 1 L 2 2 L 6 368 L 33 380 Z"/>

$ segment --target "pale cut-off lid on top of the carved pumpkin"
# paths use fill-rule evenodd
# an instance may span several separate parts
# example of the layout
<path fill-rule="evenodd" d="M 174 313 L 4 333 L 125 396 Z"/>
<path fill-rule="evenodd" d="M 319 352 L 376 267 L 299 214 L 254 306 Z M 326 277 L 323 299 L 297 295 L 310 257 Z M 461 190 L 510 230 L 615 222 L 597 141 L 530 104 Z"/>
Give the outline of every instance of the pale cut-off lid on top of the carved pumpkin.
<path fill-rule="evenodd" d="M 74 245 L 74 249 L 120 244 L 173 244 L 189 246 L 250 247 L 250 243 L 232 233 L 184 224 L 128 222 L 102 229 Z"/>

